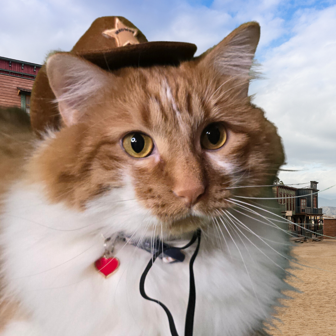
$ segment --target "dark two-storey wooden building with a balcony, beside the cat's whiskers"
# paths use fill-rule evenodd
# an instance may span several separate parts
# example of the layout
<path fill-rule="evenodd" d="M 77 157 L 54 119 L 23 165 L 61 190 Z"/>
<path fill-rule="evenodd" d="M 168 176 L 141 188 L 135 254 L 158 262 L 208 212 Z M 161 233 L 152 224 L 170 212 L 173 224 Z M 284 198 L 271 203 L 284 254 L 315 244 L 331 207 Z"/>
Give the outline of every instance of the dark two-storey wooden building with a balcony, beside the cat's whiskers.
<path fill-rule="evenodd" d="M 288 229 L 298 237 L 315 238 L 323 235 L 322 208 L 318 207 L 318 183 L 310 181 L 310 185 L 304 188 L 282 184 L 273 187 L 281 214 L 291 221 Z"/>

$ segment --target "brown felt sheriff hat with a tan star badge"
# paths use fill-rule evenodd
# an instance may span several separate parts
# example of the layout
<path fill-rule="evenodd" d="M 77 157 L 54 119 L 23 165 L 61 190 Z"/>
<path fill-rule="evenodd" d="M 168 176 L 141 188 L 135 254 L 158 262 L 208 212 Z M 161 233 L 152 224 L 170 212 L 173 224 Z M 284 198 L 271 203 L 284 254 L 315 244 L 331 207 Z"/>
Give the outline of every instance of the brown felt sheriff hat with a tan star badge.
<path fill-rule="evenodd" d="M 94 20 L 69 53 L 84 57 L 100 68 L 116 70 L 129 66 L 178 65 L 192 59 L 196 49 L 192 43 L 148 42 L 126 18 L 103 16 Z M 36 132 L 60 125 L 53 99 L 55 95 L 44 65 L 35 79 L 31 98 L 31 123 Z"/>

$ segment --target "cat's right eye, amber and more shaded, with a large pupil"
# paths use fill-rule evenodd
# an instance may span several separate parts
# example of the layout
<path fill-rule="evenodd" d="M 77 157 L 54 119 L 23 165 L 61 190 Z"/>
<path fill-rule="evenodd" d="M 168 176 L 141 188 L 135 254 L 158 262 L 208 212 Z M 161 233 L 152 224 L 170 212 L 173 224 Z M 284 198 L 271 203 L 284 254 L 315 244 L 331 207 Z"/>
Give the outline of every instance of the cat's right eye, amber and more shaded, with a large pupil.
<path fill-rule="evenodd" d="M 204 149 L 218 149 L 226 141 L 226 130 L 222 123 L 212 123 L 202 132 L 201 145 Z"/>

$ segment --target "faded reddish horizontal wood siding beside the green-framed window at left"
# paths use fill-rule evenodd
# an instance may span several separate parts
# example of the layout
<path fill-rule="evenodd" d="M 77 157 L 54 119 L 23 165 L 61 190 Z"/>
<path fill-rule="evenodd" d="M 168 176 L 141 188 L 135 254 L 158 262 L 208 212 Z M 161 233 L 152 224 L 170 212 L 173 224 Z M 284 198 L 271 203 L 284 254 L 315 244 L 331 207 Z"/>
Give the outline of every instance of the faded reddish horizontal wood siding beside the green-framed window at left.
<path fill-rule="evenodd" d="M 17 95 L 17 88 L 31 90 L 34 81 L 23 77 L 13 77 L 0 74 L 0 106 L 21 107 L 21 97 Z"/>

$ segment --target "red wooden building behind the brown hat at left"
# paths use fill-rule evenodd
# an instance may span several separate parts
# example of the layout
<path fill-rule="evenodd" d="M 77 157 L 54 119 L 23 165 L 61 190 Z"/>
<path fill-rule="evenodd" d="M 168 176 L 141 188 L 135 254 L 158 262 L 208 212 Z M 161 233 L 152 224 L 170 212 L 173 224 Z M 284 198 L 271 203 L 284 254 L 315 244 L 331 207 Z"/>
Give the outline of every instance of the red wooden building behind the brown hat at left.
<path fill-rule="evenodd" d="M 0 57 L 0 106 L 30 113 L 30 95 L 40 64 Z"/>

